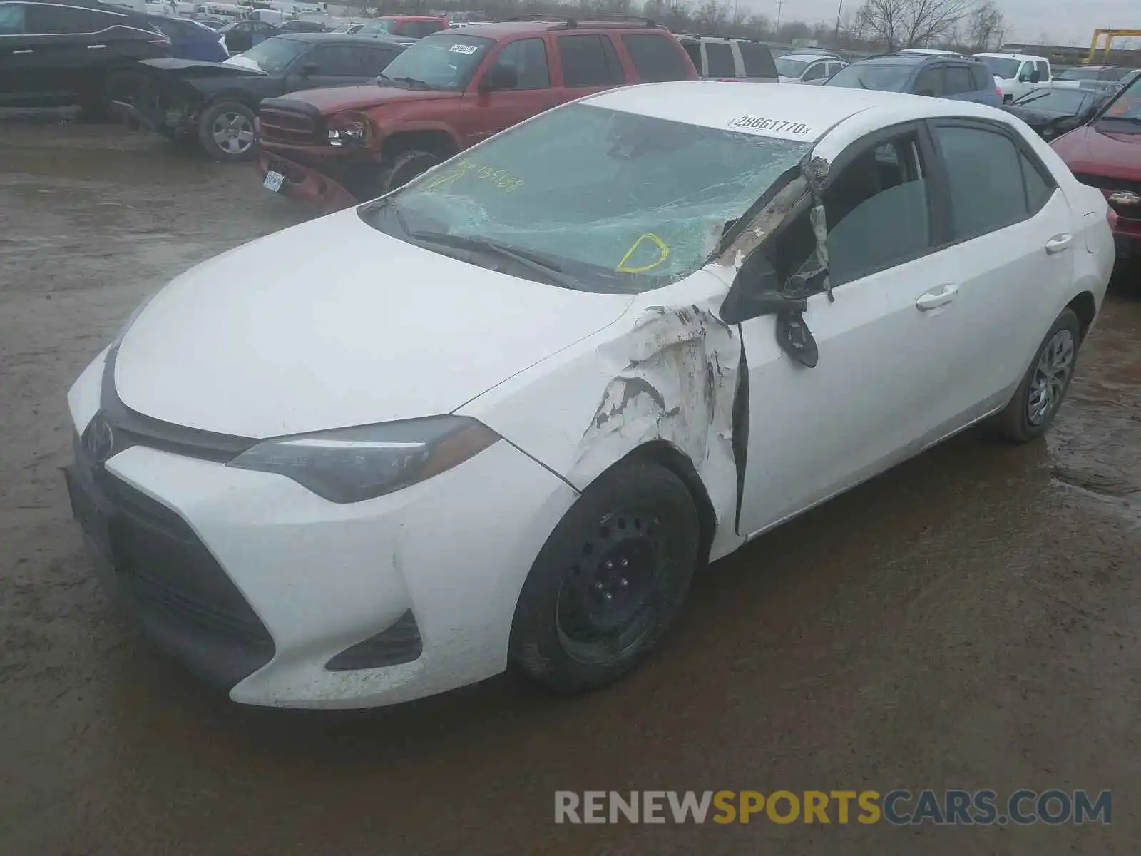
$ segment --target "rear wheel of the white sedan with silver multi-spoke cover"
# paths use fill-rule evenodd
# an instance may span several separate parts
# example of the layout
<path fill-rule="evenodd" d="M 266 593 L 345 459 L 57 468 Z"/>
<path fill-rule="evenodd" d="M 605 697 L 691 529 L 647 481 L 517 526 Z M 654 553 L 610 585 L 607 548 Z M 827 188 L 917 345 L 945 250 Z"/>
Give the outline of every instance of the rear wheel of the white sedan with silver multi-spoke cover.
<path fill-rule="evenodd" d="M 1081 342 L 1077 315 L 1066 309 L 1050 328 L 1018 391 L 998 415 L 1003 436 L 1026 443 L 1046 433 L 1069 391 Z"/>

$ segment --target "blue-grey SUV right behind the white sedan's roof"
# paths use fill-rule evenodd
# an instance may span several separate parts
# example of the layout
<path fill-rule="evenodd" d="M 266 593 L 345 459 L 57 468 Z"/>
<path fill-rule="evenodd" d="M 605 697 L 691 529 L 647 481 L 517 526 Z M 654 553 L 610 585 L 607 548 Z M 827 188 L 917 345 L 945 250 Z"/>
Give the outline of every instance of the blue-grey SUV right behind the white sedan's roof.
<path fill-rule="evenodd" d="M 1002 105 L 995 79 L 985 63 L 948 54 L 889 54 L 860 59 L 840 70 L 825 86 Z"/>

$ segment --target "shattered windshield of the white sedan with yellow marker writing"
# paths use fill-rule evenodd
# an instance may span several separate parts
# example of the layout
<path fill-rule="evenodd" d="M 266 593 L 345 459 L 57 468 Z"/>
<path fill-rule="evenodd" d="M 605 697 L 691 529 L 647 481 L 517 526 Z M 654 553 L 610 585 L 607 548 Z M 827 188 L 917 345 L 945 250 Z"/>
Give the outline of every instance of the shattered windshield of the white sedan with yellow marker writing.
<path fill-rule="evenodd" d="M 701 268 L 810 146 L 574 104 L 359 212 L 412 243 L 431 235 L 429 249 L 478 242 L 541 259 L 568 288 L 648 291 Z"/>

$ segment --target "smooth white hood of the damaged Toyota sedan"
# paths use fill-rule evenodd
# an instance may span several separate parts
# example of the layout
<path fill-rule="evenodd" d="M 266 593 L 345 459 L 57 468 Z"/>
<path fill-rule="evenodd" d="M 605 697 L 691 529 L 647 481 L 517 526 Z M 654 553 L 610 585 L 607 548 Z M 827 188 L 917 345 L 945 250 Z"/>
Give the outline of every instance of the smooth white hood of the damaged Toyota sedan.
<path fill-rule="evenodd" d="M 173 280 L 122 337 L 115 389 L 145 415 L 259 438 L 448 413 L 632 299 L 476 267 L 350 209 Z"/>

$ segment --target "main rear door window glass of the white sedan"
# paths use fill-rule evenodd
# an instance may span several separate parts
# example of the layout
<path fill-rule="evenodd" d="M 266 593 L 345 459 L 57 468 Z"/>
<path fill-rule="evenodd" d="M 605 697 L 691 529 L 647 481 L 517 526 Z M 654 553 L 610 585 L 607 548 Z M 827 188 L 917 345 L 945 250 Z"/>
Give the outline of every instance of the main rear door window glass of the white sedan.
<path fill-rule="evenodd" d="M 934 136 L 950 183 L 956 239 L 976 237 L 1026 219 L 1023 155 L 1010 137 L 963 126 L 937 126 Z"/>

